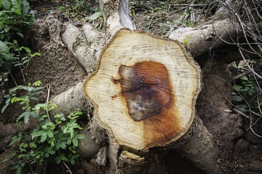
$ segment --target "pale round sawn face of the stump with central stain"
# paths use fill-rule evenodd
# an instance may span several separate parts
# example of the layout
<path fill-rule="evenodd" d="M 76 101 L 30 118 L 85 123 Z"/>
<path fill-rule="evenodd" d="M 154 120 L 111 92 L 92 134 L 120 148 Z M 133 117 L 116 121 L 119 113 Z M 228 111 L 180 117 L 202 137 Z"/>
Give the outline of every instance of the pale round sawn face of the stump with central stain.
<path fill-rule="evenodd" d="M 146 151 L 176 141 L 191 126 L 200 68 L 174 40 L 121 29 L 83 90 L 100 126 L 119 144 Z"/>

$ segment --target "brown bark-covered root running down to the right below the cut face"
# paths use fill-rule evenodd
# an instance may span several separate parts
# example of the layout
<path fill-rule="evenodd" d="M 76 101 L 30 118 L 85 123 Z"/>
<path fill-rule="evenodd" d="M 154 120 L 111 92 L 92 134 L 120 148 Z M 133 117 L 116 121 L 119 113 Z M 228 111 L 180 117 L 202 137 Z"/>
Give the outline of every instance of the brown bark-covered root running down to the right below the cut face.
<path fill-rule="evenodd" d="M 230 165 L 221 157 L 212 135 L 196 116 L 189 131 L 172 148 L 207 174 L 227 174 Z"/>

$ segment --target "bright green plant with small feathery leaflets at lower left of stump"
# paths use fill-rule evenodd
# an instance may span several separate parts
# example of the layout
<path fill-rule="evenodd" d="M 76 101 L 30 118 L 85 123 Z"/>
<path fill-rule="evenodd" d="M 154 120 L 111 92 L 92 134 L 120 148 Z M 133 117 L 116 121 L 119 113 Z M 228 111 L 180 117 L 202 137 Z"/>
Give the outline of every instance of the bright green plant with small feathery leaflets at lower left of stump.
<path fill-rule="evenodd" d="M 82 129 L 77 123 L 77 118 L 82 114 L 81 111 L 75 111 L 68 116 L 63 114 L 55 114 L 51 119 L 49 112 L 55 111 L 57 106 L 50 101 L 46 103 L 37 103 L 33 105 L 33 101 L 37 101 L 37 95 L 42 93 L 40 81 L 28 84 L 28 86 L 18 86 L 9 90 L 5 106 L 9 103 L 19 102 L 22 106 L 22 114 L 20 114 L 16 122 L 23 119 L 25 124 L 35 124 L 32 132 L 22 132 L 12 137 L 9 146 L 17 143 L 18 150 L 15 154 L 9 154 L 3 162 L 18 158 L 11 169 L 16 170 L 16 174 L 20 174 L 22 168 L 26 165 L 42 165 L 44 161 L 52 161 L 56 164 L 70 163 L 74 164 L 75 159 L 79 157 L 76 148 L 79 145 L 79 139 L 84 136 L 79 134 Z M 17 96 L 17 91 L 23 90 L 22 96 Z"/>

